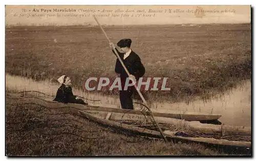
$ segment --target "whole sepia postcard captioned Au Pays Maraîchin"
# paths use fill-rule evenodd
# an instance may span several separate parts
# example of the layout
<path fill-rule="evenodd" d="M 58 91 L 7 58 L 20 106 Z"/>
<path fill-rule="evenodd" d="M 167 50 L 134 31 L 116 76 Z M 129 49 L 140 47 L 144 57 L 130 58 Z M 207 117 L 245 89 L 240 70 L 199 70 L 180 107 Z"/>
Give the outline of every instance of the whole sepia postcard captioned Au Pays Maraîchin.
<path fill-rule="evenodd" d="M 251 6 L 5 13 L 7 156 L 251 156 Z"/>

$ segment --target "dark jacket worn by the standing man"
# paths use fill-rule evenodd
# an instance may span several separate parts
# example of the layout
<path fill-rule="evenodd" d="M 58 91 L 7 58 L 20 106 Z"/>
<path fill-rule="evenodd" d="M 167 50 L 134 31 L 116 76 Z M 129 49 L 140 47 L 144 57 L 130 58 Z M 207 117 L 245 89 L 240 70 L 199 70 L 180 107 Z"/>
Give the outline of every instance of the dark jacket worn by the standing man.
<path fill-rule="evenodd" d="M 112 51 L 115 53 L 114 50 Z M 129 73 L 134 75 L 137 80 L 145 74 L 145 68 L 141 63 L 140 57 L 133 50 L 130 53 L 129 57 L 125 59 L 123 59 L 124 53 L 119 52 L 117 49 L 116 51 L 118 52 L 118 55 L 120 56 Z M 115 72 L 120 74 L 121 79 L 126 79 L 126 77 L 128 77 L 118 58 L 116 60 Z"/>

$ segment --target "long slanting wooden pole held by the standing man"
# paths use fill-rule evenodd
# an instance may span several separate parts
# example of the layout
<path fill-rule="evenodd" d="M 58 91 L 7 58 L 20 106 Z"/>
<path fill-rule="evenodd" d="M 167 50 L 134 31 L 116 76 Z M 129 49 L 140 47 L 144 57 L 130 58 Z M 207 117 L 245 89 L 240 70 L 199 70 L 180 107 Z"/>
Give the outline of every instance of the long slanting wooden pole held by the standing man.
<path fill-rule="evenodd" d="M 102 28 L 101 24 L 99 23 L 98 19 L 97 19 L 95 16 L 93 16 L 93 17 L 94 17 L 95 21 L 97 22 L 97 24 L 100 26 L 100 29 L 101 29 L 101 31 L 104 33 L 106 39 L 108 39 L 109 43 L 111 43 L 111 41 L 110 41 L 108 35 L 106 35 L 106 33 L 105 33 L 104 29 Z M 113 46 L 112 46 L 112 48 L 113 48 Z M 113 50 L 115 51 L 115 54 L 116 54 L 118 60 L 120 61 L 120 63 L 122 64 L 122 66 L 123 66 L 125 72 L 126 72 L 128 75 L 130 75 L 129 71 L 127 70 L 127 68 L 126 68 L 125 65 L 123 64 L 123 61 L 121 60 L 120 56 L 118 55 L 118 53 L 117 53 L 117 51 L 116 51 L 116 48 L 113 48 Z M 137 85 L 136 85 L 135 83 L 134 83 L 134 87 L 135 87 L 135 89 L 137 90 L 137 92 L 139 93 L 139 95 L 140 95 L 140 97 L 141 97 L 143 103 L 145 104 L 146 109 L 150 112 L 150 114 L 151 114 L 151 116 L 152 116 L 154 122 L 156 123 L 156 125 L 157 125 L 157 127 L 158 127 L 158 129 L 159 129 L 159 131 L 160 131 L 160 133 L 161 133 L 161 135 L 162 135 L 164 141 L 167 142 L 167 139 L 165 138 L 162 129 L 160 128 L 159 124 L 156 122 L 152 111 L 150 110 L 150 108 L 148 108 L 148 105 L 147 105 L 147 103 L 146 103 L 145 98 L 143 97 L 143 95 L 141 94 L 140 90 L 137 88 Z"/>

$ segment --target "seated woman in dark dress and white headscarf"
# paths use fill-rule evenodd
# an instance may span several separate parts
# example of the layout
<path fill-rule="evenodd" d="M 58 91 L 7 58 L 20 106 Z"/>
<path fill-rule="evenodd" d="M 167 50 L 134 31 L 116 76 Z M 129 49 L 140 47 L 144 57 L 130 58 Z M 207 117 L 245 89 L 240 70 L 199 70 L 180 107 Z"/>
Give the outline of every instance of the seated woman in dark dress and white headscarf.
<path fill-rule="evenodd" d="M 73 95 L 71 79 L 69 76 L 62 75 L 58 78 L 58 82 L 61 84 L 61 86 L 57 91 L 54 101 L 62 103 L 88 104 L 84 102 L 80 97 Z"/>

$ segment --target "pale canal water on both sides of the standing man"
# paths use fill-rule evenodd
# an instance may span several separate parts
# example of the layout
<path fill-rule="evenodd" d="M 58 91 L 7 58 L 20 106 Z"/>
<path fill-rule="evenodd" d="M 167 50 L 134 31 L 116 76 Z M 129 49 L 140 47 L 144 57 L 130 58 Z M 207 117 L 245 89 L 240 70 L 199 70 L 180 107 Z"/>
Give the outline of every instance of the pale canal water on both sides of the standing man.
<path fill-rule="evenodd" d="M 34 90 L 55 95 L 59 85 L 51 85 L 49 82 L 34 82 L 31 79 L 19 76 L 10 76 L 6 74 L 6 89 L 23 91 Z M 75 95 L 83 96 L 89 99 L 100 99 L 101 101 L 89 101 L 91 104 L 109 104 L 108 106 L 120 108 L 118 97 L 102 96 L 100 94 L 87 94 L 85 92 L 73 89 Z M 172 110 L 178 112 L 201 112 L 209 114 L 220 114 L 219 119 L 224 124 L 234 126 L 251 126 L 251 82 L 246 81 L 243 86 L 232 89 L 230 93 L 225 94 L 219 99 L 212 99 L 204 103 L 196 100 L 190 104 L 163 103 L 155 102 L 151 104 L 152 108 L 157 110 Z M 138 105 L 135 104 L 138 108 Z"/>

